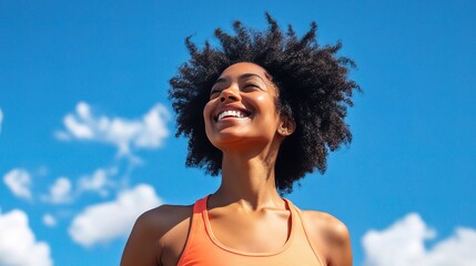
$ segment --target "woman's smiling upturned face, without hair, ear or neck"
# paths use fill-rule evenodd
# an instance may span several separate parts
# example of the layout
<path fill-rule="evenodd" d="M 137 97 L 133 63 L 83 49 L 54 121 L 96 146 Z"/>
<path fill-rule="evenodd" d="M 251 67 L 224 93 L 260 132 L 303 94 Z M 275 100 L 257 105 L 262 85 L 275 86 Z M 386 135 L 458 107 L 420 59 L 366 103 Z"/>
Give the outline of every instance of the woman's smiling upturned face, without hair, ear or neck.
<path fill-rule="evenodd" d="M 267 76 L 263 68 L 247 62 L 222 72 L 203 110 L 206 135 L 214 146 L 223 151 L 274 140 L 281 119 L 277 91 Z"/>

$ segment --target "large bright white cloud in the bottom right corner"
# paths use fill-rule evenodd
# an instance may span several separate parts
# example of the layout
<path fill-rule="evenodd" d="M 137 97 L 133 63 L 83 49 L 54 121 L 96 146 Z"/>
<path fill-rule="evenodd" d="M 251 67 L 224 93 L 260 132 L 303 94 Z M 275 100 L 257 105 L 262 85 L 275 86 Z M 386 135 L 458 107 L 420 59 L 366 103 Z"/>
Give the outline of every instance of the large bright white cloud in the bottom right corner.
<path fill-rule="evenodd" d="M 436 233 L 418 214 L 408 214 L 388 228 L 369 231 L 363 237 L 368 266 L 470 266 L 476 265 L 476 231 L 456 228 L 456 233 L 426 248 L 424 242 Z"/>

